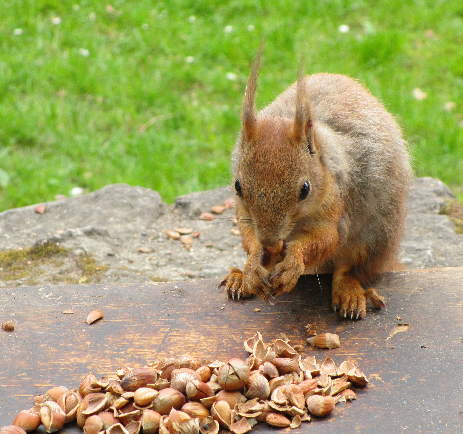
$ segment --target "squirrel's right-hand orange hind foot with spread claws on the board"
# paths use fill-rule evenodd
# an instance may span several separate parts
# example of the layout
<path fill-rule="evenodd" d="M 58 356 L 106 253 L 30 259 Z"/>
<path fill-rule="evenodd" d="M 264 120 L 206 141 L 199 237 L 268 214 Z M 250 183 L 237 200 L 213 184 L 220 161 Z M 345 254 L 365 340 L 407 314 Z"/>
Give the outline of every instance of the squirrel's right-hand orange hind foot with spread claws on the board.
<path fill-rule="evenodd" d="M 364 291 L 360 282 L 350 273 L 348 265 L 337 266 L 333 274 L 332 306 L 339 315 L 353 319 L 363 318 L 367 312 L 367 298 L 377 309 L 381 309 L 384 299 L 378 295 L 375 289 Z"/>

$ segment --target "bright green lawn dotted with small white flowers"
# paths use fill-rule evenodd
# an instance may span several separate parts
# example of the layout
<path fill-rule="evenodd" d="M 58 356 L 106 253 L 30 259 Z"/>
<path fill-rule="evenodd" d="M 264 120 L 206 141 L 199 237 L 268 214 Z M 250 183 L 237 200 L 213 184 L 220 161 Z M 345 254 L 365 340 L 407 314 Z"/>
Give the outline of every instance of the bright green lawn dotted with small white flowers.
<path fill-rule="evenodd" d="M 461 0 L 108 1 L 1 2 L 0 210 L 75 186 L 125 182 L 171 202 L 227 184 L 263 35 L 259 107 L 295 80 L 307 44 L 308 73 L 364 83 L 402 125 L 416 174 L 463 198 Z"/>

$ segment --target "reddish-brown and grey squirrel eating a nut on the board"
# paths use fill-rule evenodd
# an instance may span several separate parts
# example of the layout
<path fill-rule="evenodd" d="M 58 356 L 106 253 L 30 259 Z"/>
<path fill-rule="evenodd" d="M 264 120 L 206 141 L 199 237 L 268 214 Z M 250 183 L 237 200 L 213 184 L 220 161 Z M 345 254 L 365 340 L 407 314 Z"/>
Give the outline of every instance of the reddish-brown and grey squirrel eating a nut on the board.
<path fill-rule="evenodd" d="M 220 283 L 228 297 L 267 303 L 301 274 L 333 273 L 332 308 L 363 318 L 374 288 L 400 268 L 412 180 L 407 144 L 382 104 L 339 74 L 304 76 L 255 109 L 264 42 L 252 64 L 232 154 L 236 223 L 248 259 Z"/>

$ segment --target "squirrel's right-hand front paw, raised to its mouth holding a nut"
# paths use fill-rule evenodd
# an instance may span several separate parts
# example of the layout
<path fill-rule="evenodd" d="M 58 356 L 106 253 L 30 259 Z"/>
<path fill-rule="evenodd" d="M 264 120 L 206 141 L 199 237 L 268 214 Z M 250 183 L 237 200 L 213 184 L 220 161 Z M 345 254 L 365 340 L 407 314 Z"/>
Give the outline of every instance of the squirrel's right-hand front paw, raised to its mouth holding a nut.
<path fill-rule="evenodd" d="M 301 249 L 298 246 L 288 246 L 282 262 L 274 268 L 271 276 L 273 295 L 291 291 L 296 285 L 300 275 L 304 273 L 305 266 Z"/>

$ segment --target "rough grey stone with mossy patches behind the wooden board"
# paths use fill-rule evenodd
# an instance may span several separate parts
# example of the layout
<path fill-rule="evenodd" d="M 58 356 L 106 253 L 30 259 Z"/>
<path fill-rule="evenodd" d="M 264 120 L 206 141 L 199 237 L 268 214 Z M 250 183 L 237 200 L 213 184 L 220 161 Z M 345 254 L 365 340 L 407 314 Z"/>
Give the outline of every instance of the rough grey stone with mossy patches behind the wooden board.
<path fill-rule="evenodd" d="M 221 187 L 179 196 L 168 205 L 148 188 L 115 184 L 48 202 L 44 214 L 34 212 L 37 205 L 4 211 L 0 213 L 0 251 L 51 241 L 67 253 L 40 267 L 32 264 L 29 274 L 20 279 L 0 279 L 0 286 L 79 281 L 82 258 L 88 254 L 101 272 L 89 276 L 86 283 L 219 279 L 230 267 L 242 268 L 246 260 L 241 237 L 231 233 L 233 211 L 226 210 L 212 221 L 198 216 L 233 196 L 230 188 Z M 439 214 L 446 198 L 453 195 L 443 182 L 415 180 L 402 242 L 407 268 L 463 265 L 463 236 L 455 233 L 447 216 Z M 165 229 L 179 227 L 200 232 L 191 250 L 166 236 Z M 141 254 L 139 248 L 150 253 Z"/>

